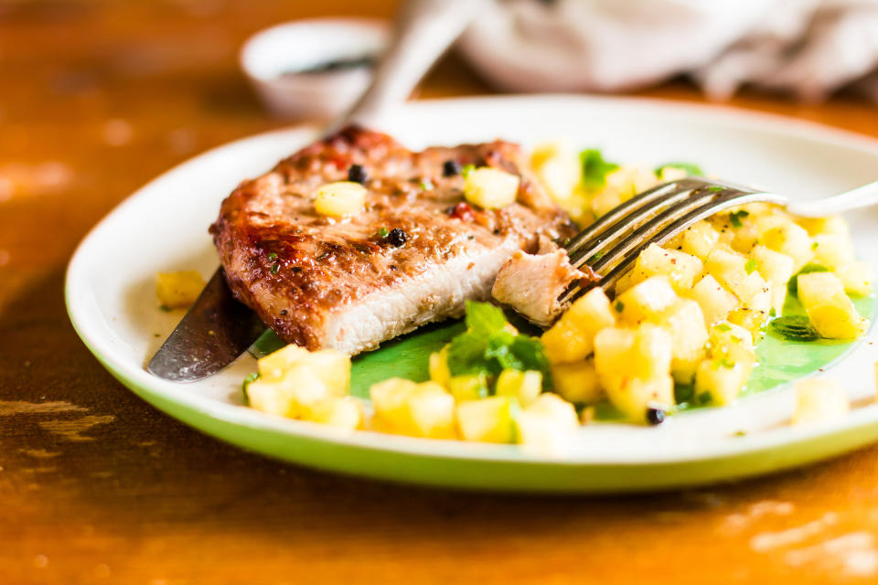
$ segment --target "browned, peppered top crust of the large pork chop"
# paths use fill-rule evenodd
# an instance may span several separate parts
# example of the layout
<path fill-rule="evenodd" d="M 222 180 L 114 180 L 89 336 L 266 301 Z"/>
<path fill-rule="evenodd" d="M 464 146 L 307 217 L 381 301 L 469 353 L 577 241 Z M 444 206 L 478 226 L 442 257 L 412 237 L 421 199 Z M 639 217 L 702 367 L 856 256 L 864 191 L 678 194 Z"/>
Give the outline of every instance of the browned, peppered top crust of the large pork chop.
<path fill-rule="evenodd" d="M 463 202 L 462 177 L 443 176 L 449 159 L 521 176 L 519 203 L 449 214 Z M 210 233 L 235 296 L 287 343 L 316 349 L 327 315 L 371 293 L 510 238 L 533 250 L 538 235 L 573 234 L 525 161 L 519 146 L 502 141 L 418 153 L 386 134 L 348 127 L 241 183 Z M 365 211 L 344 219 L 316 215 L 317 187 L 346 180 L 354 164 L 369 171 Z M 434 188 L 424 189 L 425 182 Z M 405 246 L 392 246 L 380 228 L 404 230 Z"/>

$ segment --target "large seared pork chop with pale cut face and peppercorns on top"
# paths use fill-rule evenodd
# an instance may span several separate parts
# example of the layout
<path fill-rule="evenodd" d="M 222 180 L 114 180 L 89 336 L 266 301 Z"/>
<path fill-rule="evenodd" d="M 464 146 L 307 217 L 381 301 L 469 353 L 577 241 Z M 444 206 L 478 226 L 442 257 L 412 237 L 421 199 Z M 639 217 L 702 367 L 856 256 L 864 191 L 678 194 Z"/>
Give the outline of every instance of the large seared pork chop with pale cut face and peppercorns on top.
<path fill-rule="evenodd" d="M 490 297 L 516 250 L 575 232 L 526 161 L 516 144 L 412 152 L 386 134 L 348 127 L 242 183 L 210 232 L 232 292 L 277 335 L 353 355 L 461 316 L 467 299 Z M 464 165 L 519 175 L 517 202 L 470 207 Z M 348 178 L 368 189 L 364 210 L 318 215 L 317 188 Z"/>

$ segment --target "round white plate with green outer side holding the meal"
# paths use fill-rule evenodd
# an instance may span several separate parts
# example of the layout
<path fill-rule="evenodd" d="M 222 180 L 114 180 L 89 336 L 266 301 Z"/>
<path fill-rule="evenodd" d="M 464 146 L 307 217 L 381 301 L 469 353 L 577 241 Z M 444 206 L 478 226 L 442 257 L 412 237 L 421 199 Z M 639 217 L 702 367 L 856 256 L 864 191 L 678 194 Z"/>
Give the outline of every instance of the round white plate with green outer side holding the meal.
<path fill-rule="evenodd" d="M 532 145 L 563 137 L 612 160 L 692 161 L 717 176 L 791 197 L 821 197 L 878 178 L 878 141 L 808 122 L 728 108 L 620 98 L 522 96 L 419 101 L 385 129 L 412 148 L 502 137 Z M 505 490 L 628 491 L 704 484 L 807 463 L 878 440 L 878 407 L 811 428 L 782 426 L 788 387 L 726 409 L 693 412 L 658 428 L 585 427 L 561 457 L 514 446 L 341 433 L 241 407 L 242 356 L 193 384 L 144 365 L 182 316 L 156 309 L 158 271 L 212 273 L 207 229 L 242 179 L 258 176 L 316 137 L 312 128 L 260 134 L 177 166 L 104 218 L 82 242 L 67 277 L 70 318 L 113 375 L 144 399 L 226 441 L 288 461 L 392 480 Z M 858 253 L 878 263 L 878 215 L 851 217 Z M 874 394 L 874 329 L 825 375 L 852 400 Z M 767 429 L 767 430 L 766 430 Z M 735 431 L 748 431 L 735 436 Z"/>

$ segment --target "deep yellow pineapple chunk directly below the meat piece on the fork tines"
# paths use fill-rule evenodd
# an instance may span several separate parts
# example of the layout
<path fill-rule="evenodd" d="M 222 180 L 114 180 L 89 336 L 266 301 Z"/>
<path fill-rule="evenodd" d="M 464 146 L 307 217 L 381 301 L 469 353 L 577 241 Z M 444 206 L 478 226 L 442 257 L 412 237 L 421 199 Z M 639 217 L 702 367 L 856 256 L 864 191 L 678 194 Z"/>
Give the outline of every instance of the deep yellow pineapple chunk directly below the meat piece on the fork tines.
<path fill-rule="evenodd" d="M 541 337 L 553 364 L 580 361 L 592 353 L 594 334 L 616 324 L 616 316 L 603 289 L 596 287 L 576 300 L 558 323 Z"/>

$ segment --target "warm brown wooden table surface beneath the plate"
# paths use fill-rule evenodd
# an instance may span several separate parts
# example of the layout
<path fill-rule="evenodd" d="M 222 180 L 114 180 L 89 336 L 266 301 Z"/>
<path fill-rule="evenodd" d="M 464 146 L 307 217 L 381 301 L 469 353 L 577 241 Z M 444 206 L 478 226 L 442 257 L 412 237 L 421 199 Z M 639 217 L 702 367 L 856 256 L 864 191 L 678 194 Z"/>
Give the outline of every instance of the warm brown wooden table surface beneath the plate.
<path fill-rule="evenodd" d="M 431 491 L 242 452 L 153 410 L 99 366 L 64 309 L 76 243 L 168 167 L 282 124 L 236 65 L 252 31 L 387 16 L 393 4 L 0 3 L 0 582 L 878 579 L 878 447 L 667 495 Z M 421 94 L 487 91 L 447 58 Z M 682 82 L 644 93 L 701 101 Z M 733 103 L 878 136 L 878 112 L 853 97 Z"/>

